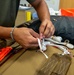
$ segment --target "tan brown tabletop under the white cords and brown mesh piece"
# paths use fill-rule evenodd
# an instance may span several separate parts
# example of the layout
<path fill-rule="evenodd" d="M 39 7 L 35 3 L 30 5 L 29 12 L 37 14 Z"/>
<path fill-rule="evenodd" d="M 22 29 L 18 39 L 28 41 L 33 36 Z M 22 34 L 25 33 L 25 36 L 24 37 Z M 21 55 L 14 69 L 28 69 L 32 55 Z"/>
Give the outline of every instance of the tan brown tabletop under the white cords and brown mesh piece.
<path fill-rule="evenodd" d="M 53 53 L 60 52 L 57 48 L 48 47 L 45 53 L 50 59 Z M 73 50 L 71 52 L 74 54 Z M 0 75 L 36 75 L 47 60 L 41 52 L 36 52 L 36 50 L 21 50 L 0 66 Z M 72 64 L 67 75 L 74 75 L 74 58 L 72 58 Z"/>

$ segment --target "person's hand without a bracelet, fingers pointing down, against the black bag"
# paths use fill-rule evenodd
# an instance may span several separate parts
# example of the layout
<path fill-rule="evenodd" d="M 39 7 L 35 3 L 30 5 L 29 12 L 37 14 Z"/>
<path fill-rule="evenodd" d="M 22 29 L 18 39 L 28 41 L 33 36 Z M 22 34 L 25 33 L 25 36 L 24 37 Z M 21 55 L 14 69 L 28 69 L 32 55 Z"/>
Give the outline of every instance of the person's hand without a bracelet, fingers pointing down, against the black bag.
<path fill-rule="evenodd" d="M 54 34 L 55 28 L 50 20 L 44 20 L 39 28 L 40 37 L 50 37 Z"/>

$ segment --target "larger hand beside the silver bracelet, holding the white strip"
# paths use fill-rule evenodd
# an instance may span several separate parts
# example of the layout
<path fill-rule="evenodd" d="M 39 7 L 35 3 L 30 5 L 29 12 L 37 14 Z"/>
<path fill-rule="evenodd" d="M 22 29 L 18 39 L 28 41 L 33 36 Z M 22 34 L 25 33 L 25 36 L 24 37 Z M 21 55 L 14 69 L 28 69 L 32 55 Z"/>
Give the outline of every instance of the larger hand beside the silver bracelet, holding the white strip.
<path fill-rule="evenodd" d="M 37 47 L 37 37 L 39 34 L 29 28 L 15 28 L 13 32 L 14 39 L 18 42 L 23 48 Z"/>

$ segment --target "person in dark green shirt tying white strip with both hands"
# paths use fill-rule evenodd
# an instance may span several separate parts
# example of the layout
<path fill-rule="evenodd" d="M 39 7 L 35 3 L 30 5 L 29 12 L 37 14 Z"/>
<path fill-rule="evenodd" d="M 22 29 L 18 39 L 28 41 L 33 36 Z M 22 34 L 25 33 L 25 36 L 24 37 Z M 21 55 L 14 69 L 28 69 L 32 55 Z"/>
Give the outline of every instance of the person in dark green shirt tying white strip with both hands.
<path fill-rule="evenodd" d="M 10 33 L 23 48 L 37 47 L 37 38 L 50 37 L 55 28 L 50 21 L 48 7 L 44 0 L 27 0 L 37 11 L 41 25 L 39 34 L 30 28 L 14 28 L 20 0 L 0 0 L 0 39 L 10 39 Z"/>

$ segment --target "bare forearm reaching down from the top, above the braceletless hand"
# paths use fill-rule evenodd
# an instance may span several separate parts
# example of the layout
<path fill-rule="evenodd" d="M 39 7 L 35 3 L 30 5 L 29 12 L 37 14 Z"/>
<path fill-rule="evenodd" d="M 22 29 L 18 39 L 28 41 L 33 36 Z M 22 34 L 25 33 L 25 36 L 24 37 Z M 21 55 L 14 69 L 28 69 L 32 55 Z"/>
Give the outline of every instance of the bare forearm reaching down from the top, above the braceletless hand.
<path fill-rule="evenodd" d="M 50 13 L 49 13 L 47 4 L 45 3 L 44 0 L 41 0 L 39 3 L 38 3 L 38 1 L 35 1 L 32 5 L 36 9 L 41 21 L 43 21 L 45 19 L 50 20 Z"/>

